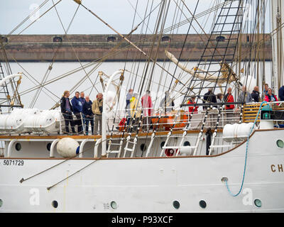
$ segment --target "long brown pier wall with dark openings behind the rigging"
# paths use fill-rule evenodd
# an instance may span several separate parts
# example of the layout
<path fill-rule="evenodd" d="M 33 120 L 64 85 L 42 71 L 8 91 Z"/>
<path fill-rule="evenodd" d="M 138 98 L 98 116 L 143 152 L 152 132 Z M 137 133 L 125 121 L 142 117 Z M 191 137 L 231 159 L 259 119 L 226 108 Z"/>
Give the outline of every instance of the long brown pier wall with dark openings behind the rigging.
<path fill-rule="evenodd" d="M 129 45 L 119 35 L 0 35 L 8 60 L 13 62 L 50 62 L 50 61 L 94 61 L 108 55 L 106 61 L 144 61 L 146 57 Z M 232 35 L 232 38 L 236 35 Z M 153 35 L 130 35 L 127 37 L 135 43 L 147 55 L 150 55 L 153 40 L 152 56 L 155 57 L 158 39 Z M 207 43 L 209 35 L 162 35 L 158 60 L 168 61 L 165 50 L 180 57 L 181 61 L 198 61 Z M 210 38 L 210 45 L 214 46 L 219 40 L 218 46 L 225 49 L 226 38 L 229 34 L 214 35 Z M 225 41 L 222 41 L 224 40 Z M 271 36 L 261 34 L 256 37 L 252 34 L 241 34 L 241 58 L 256 60 L 271 60 Z M 262 40 L 258 45 L 252 40 Z M 234 43 L 231 43 L 234 44 Z M 183 50 L 182 50 L 183 47 Z M 114 52 L 111 53 L 111 50 Z M 182 55 L 180 52 L 182 50 Z M 228 49 L 231 54 L 233 49 Z M 0 60 L 4 61 L 3 50 L 0 48 Z M 230 60 L 227 57 L 226 60 Z"/>

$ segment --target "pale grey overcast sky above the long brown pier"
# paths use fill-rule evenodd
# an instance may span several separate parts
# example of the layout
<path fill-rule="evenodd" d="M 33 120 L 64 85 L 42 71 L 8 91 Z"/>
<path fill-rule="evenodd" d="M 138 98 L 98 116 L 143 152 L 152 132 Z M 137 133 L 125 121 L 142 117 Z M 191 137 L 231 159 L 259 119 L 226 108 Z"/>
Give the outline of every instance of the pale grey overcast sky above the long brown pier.
<path fill-rule="evenodd" d="M 1 0 L 3 1 L 3 0 Z M 1 4 L 0 8 L 0 33 L 1 34 L 9 34 L 13 31 L 13 28 L 16 28 L 24 18 L 26 18 L 33 10 L 42 4 L 45 0 L 9 0 L 5 1 L 5 3 Z M 64 30 L 60 24 L 60 20 L 55 9 L 51 9 L 46 13 L 39 21 L 36 21 L 29 28 L 23 31 L 36 16 L 40 16 L 42 13 L 45 13 L 51 6 L 53 6 L 53 2 L 56 4 L 59 0 L 49 0 L 42 9 L 40 9 L 38 15 L 34 14 L 26 23 L 24 23 L 20 28 L 14 31 L 12 34 L 16 35 L 18 33 L 21 34 L 64 34 Z M 190 11 L 195 11 L 195 6 L 197 0 L 184 0 L 186 6 L 190 9 Z M 134 9 L 137 6 L 137 13 L 134 22 L 134 26 L 141 22 L 141 18 L 144 17 L 147 3 L 148 3 L 148 11 L 150 11 L 151 4 L 153 4 L 153 8 L 160 3 L 160 0 L 82 0 L 84 6 L 97 13 L 98 16 L 104 19 L 109 25 L 114 27 L 116 31 L 119 33 L 129 33 L 131 31 Z M 214 4 L 220 3 L 220 0 L 200 0 L 200 4 L 197 8 L 197 13 L 200 13 L 204 10 L 210 9 Z M 236 1 L 238 2 L 238 1 Z M 178 14 L 176 13 L 176 9 L 178 9 L 177 4 L 182 9 L 183 13 L 180 11 Z M 77 4 L 72 0 L 62 0 L 56 6 L 60 18 L 62 20 L 65 29 L 69 25 L 72 16 L 74 15 Z M 158 13 L 158 8 L 154 11 L 151 16 L 151 23 L 148 26 L 147 33 L 153 33 L 153 29 L 155 26 L 155 18 Z M 184 21 L 187 18 L 190 18 L 190 12 L 186 9 L 186 7 L 182 4 L 180 0 L 171 0 L 170 7 L 168 11 L 168 21 L 165 24 L 165 28 L 172 26 L 173 24 L 178 23 L 179 21 Z M 213 16 L 213 13 L 212 13 Z M 205 30 L 209 30 L 212 26 L 212 19 L 206 20 L 207 18 L 199 18 L 199 23 L 205 28 Z M 147 21 L 146 21 L 147 22 Z M 197 28 L 198 32 L 200 28 L 196 23 L 193 23 L 193 26 Z M 268 25 L 269 26 L 269 25 Z M 267 27 L 268 27 L 267 26 Z M 135 33 L 141 33 L 141 29 L 143 28 L 143 33 L 146 31 L 146 26 L 140 26 Z M 173 33 L 187 33 L 188 24 L 185 26 L 181 26 L 176 29 Z M 22 32 L 23 31 L 23 32 Z M 70 26 L 69 34 L 110 34 L 114 33 L 110 28 L 107 28 L 101 21 L 95 18 L 89 11 L 83 9 L 80 6 L 80 9 L 77 11 L 74 21 Z M 190 33 L 195 33 L 194 30 L 191 30 Z"/>

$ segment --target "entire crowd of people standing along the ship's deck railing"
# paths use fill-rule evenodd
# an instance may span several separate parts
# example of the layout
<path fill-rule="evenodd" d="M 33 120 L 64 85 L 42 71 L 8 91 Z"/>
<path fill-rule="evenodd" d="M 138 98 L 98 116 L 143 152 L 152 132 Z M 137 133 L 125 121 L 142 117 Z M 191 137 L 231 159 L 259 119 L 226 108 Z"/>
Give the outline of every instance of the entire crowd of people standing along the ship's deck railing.
<path fill-rule="evenodd" d="M 278 94 L 280 101 L 284 101 L 284 85 L 280 87 Z M 85 135 L 88 135 L 89 124 L 91 124 L 92 135 L 101 135 L 103 94 L 97 94 L 97 99 L 94 99 L 94 101 L 91 101 L 89 96 L 84 96 L 84 92 L 75 92 L 75 96 L 71 101 L 69 96 L 70 92 L 65 91 L 62 99 L 60 100 L 61 112 L 65 118 L 65 133 L 70 133 L 70 125 L 73 134 L 83 134 L 85 132 Z M 259 92 L 258 86 L 254 87 L 253 92 L 251 93 L 246 91 L 246 86 L 243 86 L 237 99 L 237 102 L 245 103 L 260 101 L 278 101 L 277 96 L 273 94 L 273 90 L 268 87 L 268 84 L 265 84 L 262 94 Z M 224 105 L 224 109 L 233 110 L 235 108 L 235 101 L 231 87 L 227 89 L 224 99 L 223 94 L 219 93 L 215 95 L 214 92 L 212 92 L 212 88 L 209 88 L 208 92 L 204 94 L 202 102 L 203 104 L 217 104 L 223 102 L 226 103 Z M 190 113 L 198 112 L 199 106 L 195 106 L 195 95 L 190 96 L 187 104 L 190 104 L 190 106 L 188 106 L 188 111 Z M 172 111 L 174 106 L 175 104 L 173 99 L 170 97 L 170 92 L 165 92 L 165 96 L 163 96 L 163 99 L 160 101 L 160 109 L 162 109 L 164 113 L 167 113 Z M 217 107 L 217 105 L 214 107 Z M 203 109 L 206 109 L 206 105 L 203 105 Z M 137 128 L 138 121 L 142 116 L 142 130 L 148 131 L 149 127 L 151 127 L 151 116 L 153 116 L 151 92 L 147 90 L 141 97 L 141 100 L 138 100 L 138 93 L 133 92 L 133 89 L 129 89 L 126 94 L 126 114 L 129 116 L 127 122 L 126 119 L 124 119 L 127 126 L 132 123 L 133 126 L 136 126 Z M 75 119 L 73 118 L 73 115 L 75 116 Z M 75 126 L 77 126 L 77 132 L 75 132 Z M 136 130 L 136 128 L 134 127 L 133 130 Z"/>

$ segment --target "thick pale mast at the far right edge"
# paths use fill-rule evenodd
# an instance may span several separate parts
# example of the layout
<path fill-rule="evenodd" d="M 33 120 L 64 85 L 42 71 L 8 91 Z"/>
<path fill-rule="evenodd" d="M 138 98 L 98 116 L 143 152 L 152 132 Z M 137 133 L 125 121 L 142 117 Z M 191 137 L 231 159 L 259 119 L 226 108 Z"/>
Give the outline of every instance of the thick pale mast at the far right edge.
<path fill-rule="evenodd" d="M 278 94 L 279 88 L 283 85 L 283 38 L 284 30 L 282 24 L 284 23 L 284 3 L 281 0 L 271 0 L 271 35 L 272 40 L 272 59 L 273 59 L 273 73 L 271 77 L 271 86 L 275 94 Z"/>

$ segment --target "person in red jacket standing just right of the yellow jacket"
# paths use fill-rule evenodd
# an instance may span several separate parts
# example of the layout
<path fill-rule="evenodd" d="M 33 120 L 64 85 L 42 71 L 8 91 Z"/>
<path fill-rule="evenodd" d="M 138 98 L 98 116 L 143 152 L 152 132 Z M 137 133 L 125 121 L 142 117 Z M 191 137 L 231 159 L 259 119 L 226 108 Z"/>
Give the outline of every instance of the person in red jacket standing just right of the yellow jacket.
<path fill-rule="evenodd" d="M 150 91 L 147 90 L 141 98 L 142 110 L 143 110 L 143 130 L 149 130 L 151 123 L 151 116 L 153 114 L 153 102 L 150 96 Z"/>

